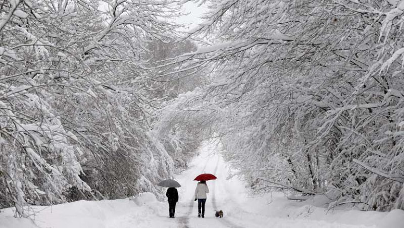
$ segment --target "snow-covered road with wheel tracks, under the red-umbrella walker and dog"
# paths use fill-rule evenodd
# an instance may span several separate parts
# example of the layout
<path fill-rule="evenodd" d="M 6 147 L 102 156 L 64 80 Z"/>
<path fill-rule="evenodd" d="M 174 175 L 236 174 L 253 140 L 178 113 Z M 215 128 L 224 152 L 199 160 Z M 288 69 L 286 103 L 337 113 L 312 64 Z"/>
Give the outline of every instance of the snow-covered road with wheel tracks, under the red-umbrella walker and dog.
<path fill-rule="evenodd" d="M 215 145 L 205 145 L 199 152 L 199 156 L 192 161 L 191 168 L 177 176 L 177 180 L 182 184 L 182 187 L 178 189 L 180 200 L 176 210 L 178 228 L 372 227 L 308 219 L 270 217 L 265 213 L 265 208 L 271 207 L 270 204 L 261 202 L 260 205 L 257 205 L 256 201 L 250 201 L 251 197 L 247 195 L 244 184 L 240 180 L 235 177 L 226 179 L 229 176 L 229 170 Z M 205 218 L 198 218 L 197 202 L 193 201 L 196 181 L 192 181 L 192 179 L 204 172 L 213 173 L 218 179 L 207 181 L 210 194 L 208 194 L 206 202 Z M 224 211 L 224 217 L 216 218 L 215 210 L 220 209 Z"/>

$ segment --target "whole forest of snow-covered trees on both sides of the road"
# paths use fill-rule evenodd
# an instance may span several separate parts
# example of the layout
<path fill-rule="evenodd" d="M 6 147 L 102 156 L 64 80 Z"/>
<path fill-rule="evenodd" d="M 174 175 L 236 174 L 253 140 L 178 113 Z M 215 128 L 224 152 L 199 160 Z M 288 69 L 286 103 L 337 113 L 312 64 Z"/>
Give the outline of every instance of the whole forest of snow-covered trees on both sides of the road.
<path fill-rule="evenodd" d="M 215 137 L 256 192 L 404 209 L 403 25 L 400 0 L 0 0 L 0 208 L 158 192 Z"/>

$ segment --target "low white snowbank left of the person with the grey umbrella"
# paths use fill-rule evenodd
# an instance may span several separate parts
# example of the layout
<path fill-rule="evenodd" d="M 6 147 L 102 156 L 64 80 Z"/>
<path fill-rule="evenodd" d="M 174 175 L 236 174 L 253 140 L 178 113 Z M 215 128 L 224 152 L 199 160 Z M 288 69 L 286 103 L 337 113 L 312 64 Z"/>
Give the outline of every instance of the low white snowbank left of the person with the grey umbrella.
<path fill-rule="evenodd" d="M 165 224 L 155 219 L 157 214 L 165 214 L 166 208 L 167 205 L 158 202 L 152 193 L 142 193 L 133 199 L 35 206 L 31 220 L 14 218 L 14 208 L 7 208 L 0 213 L 0 228 L 169 227 L 174 221 L 168 220 Z"/>

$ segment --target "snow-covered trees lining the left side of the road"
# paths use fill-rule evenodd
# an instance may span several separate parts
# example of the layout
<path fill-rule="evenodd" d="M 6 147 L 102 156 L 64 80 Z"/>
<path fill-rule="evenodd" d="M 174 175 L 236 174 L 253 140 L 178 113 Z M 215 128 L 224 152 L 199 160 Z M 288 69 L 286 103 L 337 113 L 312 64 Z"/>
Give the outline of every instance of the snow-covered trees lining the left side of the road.
<path fill-rule="evenodd" d="M 177 4 L 0 3 L 0 208 L 160 191 L 175 162 L 143 65 L 151 41 L 174 39 Z"/>

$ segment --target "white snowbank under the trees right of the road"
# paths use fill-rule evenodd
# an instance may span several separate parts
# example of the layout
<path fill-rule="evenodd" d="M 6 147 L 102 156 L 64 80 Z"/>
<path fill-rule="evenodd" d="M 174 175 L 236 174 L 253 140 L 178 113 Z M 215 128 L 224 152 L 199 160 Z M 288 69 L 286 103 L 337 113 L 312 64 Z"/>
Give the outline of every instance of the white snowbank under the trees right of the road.
<path fill-rule="evenodd" d="M 291 219 L 318 220 L 338 224 L 377 228 L 404 227 L 404 211 L 360 211 L 346 207 L 327 209 L 327 200 L 315 197 L 306 201 L 288 200 L 282 193 L 255 196 L 248 199 L 245 210 L 262 216 Z"/>

